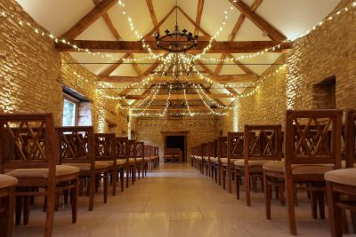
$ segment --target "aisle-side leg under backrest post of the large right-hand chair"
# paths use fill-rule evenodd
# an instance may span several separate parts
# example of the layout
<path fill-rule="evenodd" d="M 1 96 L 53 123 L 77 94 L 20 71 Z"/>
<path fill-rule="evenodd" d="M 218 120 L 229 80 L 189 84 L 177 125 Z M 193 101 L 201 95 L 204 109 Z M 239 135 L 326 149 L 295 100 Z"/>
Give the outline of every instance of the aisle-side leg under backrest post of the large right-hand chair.
<path fill-rule="evenodd" d="M 295 224 L 295 190 L 291 178 L 285 178 L 286 199 L 287 199 L 287 213 L 289 221 L 289 233 L 296 235 Z"/>

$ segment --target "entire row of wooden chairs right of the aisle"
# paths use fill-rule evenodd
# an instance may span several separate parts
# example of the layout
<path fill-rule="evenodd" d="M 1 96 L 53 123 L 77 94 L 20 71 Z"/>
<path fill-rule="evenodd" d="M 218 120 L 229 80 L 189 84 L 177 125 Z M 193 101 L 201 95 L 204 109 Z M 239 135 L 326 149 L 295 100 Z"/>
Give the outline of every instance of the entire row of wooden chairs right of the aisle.
<path fill-rule="evenodd" d="M 260 184 L 267 219 L 274 190 L 276 199 L 286 202 L 291 234 L 297 233 L 297 193 L 308 194 L 313 218 L 318 210 L 325 218 L 327 194 L 332 236 L 342 236 L 343 230 L 348 233 L 344 210 L 356 209 L 356 113 L 347 110 L 344 117 L 343 124 L 342 110 L 287 110 L 283 130 L 281 125 L 246 125 L 243 132 L 192 147 L 191 164 L 223 188 L 227 180 L 230 193 L 235 181 L 238 199 L 239 187 L 245 186 L 247 206 L 251 189 L 256 192 Z"/>

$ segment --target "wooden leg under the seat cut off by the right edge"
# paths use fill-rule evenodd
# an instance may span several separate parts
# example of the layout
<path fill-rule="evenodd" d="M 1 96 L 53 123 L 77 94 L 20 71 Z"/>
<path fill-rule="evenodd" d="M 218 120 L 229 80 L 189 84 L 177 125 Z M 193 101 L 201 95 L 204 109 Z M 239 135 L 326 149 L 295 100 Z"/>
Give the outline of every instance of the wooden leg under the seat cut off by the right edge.
<path fill-rule="evenodd" d="M 328 216 L 332 237 L 343 235 L 342 229 L 342 211 L 337 207 L 336 202 L 340 200 L 340 194 L 333 192 L 332 184 L 327 181 L 327 198 L 328 198 Z"/>

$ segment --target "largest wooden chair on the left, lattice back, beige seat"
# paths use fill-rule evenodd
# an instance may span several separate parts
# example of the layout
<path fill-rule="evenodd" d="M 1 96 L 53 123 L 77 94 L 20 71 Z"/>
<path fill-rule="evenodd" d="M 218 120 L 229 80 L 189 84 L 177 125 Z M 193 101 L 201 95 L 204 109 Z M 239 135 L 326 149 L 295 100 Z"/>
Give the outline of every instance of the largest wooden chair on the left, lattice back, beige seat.
<path fill-rule="evenodd" d="M 58 140 L 52 114 L 0 115 L 1 172 L 19 180 L 15 189 L 16 223 L 28 224 L 30 197 L 44 196 L 44 236 L 51 236 L 56 196 L 70 191 L 72 223 L 77 222 L 77 183 L 79 170 L 57 165 Z"/>

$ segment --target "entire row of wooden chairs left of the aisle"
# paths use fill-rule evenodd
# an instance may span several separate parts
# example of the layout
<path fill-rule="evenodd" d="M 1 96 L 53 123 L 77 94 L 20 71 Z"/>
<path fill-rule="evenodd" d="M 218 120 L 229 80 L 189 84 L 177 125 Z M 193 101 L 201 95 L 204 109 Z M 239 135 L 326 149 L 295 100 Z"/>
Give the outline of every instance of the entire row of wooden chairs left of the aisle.
<path fill-rule="evenodd" d="M 103 186 L 107 202 L 112 195 L 158 167 L 158 147 L 94 133 L 93 127 L 55 128 L 52 114 L 0 115 L 0 235 L 11 236 L 13 209 L 15 222 L 28 224 L 29 209 L 36 196 L 44 196 L 46 211 L 44 236 L 51 236 L 54 211 L 60 196 L 72 206 L 72 223 L 77 222 L 78 195 L 89 197 Z"/>

